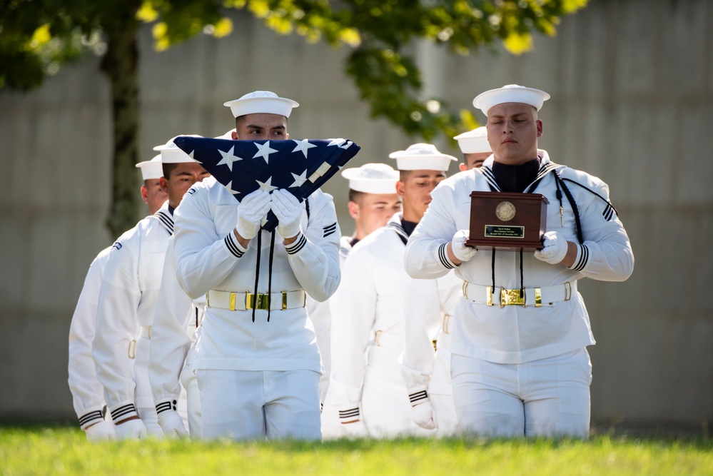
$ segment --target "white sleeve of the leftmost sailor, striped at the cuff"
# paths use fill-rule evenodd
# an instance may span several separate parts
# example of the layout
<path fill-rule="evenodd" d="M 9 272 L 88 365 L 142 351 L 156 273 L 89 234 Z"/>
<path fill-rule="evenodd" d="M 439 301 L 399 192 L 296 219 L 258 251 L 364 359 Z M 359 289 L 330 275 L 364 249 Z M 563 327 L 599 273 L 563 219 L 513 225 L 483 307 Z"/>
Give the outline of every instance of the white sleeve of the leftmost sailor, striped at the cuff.
<path fill-rule="evenodd" d="M 103 387 L 96 378 L 96 365 L 91 355 L 91 341 L 96 326 L 96 308 L 101 288 L 101 276 L 109 249 L 101 251 L 89 266 L 84 287 L 69 325 L 69 390 L 74 411 L 82 430 L 103 420 Z"/>

